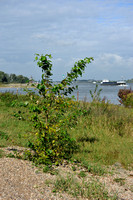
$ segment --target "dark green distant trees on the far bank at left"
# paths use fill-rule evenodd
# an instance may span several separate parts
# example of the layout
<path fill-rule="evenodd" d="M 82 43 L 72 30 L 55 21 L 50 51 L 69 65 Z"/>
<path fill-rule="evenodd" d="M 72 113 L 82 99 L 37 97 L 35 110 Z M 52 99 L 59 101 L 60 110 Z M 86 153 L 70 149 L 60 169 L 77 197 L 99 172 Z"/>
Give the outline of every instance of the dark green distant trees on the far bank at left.
<path fill-rule="evenodd" d="M 0 71 L 0 83 L 27 83 L 29 78 L 23 75 L 7 74 Z"/>

